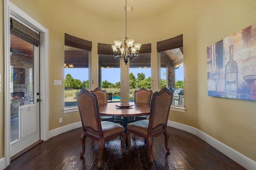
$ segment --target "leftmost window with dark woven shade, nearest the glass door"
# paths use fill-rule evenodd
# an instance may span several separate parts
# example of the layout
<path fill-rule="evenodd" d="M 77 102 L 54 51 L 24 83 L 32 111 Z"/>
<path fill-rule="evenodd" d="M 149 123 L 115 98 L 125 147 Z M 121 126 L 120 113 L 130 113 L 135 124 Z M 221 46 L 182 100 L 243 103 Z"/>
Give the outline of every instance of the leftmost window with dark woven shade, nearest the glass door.
<path fill-rule="evenodd" d="M 64 57 L 64 112 L 77 109 L 75 94 L 89 88 L 89 56 L 92 43 L 65 33 Z"/>

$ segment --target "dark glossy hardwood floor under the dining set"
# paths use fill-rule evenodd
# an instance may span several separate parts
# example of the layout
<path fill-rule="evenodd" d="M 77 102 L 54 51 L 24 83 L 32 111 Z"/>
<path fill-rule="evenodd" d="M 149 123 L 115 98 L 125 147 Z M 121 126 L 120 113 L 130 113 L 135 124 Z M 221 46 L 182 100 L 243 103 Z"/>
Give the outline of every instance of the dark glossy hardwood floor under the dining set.
<path fill-rule="evenodd" d="M 154 162 L 150 163 L 143 138 L 131 134 L 131 150 L 122 153 L 120 139 L 105 143 L 102 170 L 244 170 L 242 166 L 214 149 L 202 139 L 168 127 L 170 153 L 164 147 L 164 135 L 153 138 Z M 82 128 L 74 129 L 40 143 L 13 160 L 6 170 L 94 170 L 98 161 L 98 142 L 86 138 L 82 150 Z"/>

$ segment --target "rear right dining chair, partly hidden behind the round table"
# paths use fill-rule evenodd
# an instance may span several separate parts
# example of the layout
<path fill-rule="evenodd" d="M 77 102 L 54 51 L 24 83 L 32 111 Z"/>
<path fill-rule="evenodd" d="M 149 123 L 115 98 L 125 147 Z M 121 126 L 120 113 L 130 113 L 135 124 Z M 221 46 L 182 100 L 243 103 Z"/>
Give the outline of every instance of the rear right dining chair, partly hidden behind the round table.
<path fill-rule="evenodd" d="M 146 88 L 141 88 L 134 91 L 134 103 L 148 103 L 150 104 L 153 91 Z M 135 121 L 148 119 L 149 115 L 136 116 Z"/>

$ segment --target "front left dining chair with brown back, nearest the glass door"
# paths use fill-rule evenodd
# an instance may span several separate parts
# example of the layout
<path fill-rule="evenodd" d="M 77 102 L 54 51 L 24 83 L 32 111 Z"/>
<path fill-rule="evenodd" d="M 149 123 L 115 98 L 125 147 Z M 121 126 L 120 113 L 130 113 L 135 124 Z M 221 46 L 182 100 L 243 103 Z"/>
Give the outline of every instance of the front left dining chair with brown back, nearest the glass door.
<path fill-rule="evenodd" d="M 85 152 L 86 137 L 98 141 L 99 157 L 97 166 L 100 168 L 105 141 L 113 140 L 122 135 L 121 148 L 122 152 L 125 152 L 125 128 L 114 122 L 100 121 L 98 98 L 94 92 L 91 93 L 86 88 L 82 88 L 80 92 L 76 93 L 76 102 L 83 127 L 83 133 L 81 135 L 82 151 L 80 155 L 83 156 Z"/>

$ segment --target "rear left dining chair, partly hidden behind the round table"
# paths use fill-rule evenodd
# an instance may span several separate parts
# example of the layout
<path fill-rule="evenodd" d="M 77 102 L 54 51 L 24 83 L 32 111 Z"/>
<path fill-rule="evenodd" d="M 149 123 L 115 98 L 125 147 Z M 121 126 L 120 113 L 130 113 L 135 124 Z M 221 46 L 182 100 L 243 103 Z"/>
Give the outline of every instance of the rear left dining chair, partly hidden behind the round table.
<path fill-rule="evenodd" d="M 94 92 L 97 95 L 99 104 L 108 103 L 108 93 L 106 90 L 102 90 L 101 88 L 97 87 L 94 90 L 90 90 L 90 92 Z M 100 119 L 101 121 L 114 122 L 114 117 L 112 116 L 100 116 Z"/>

